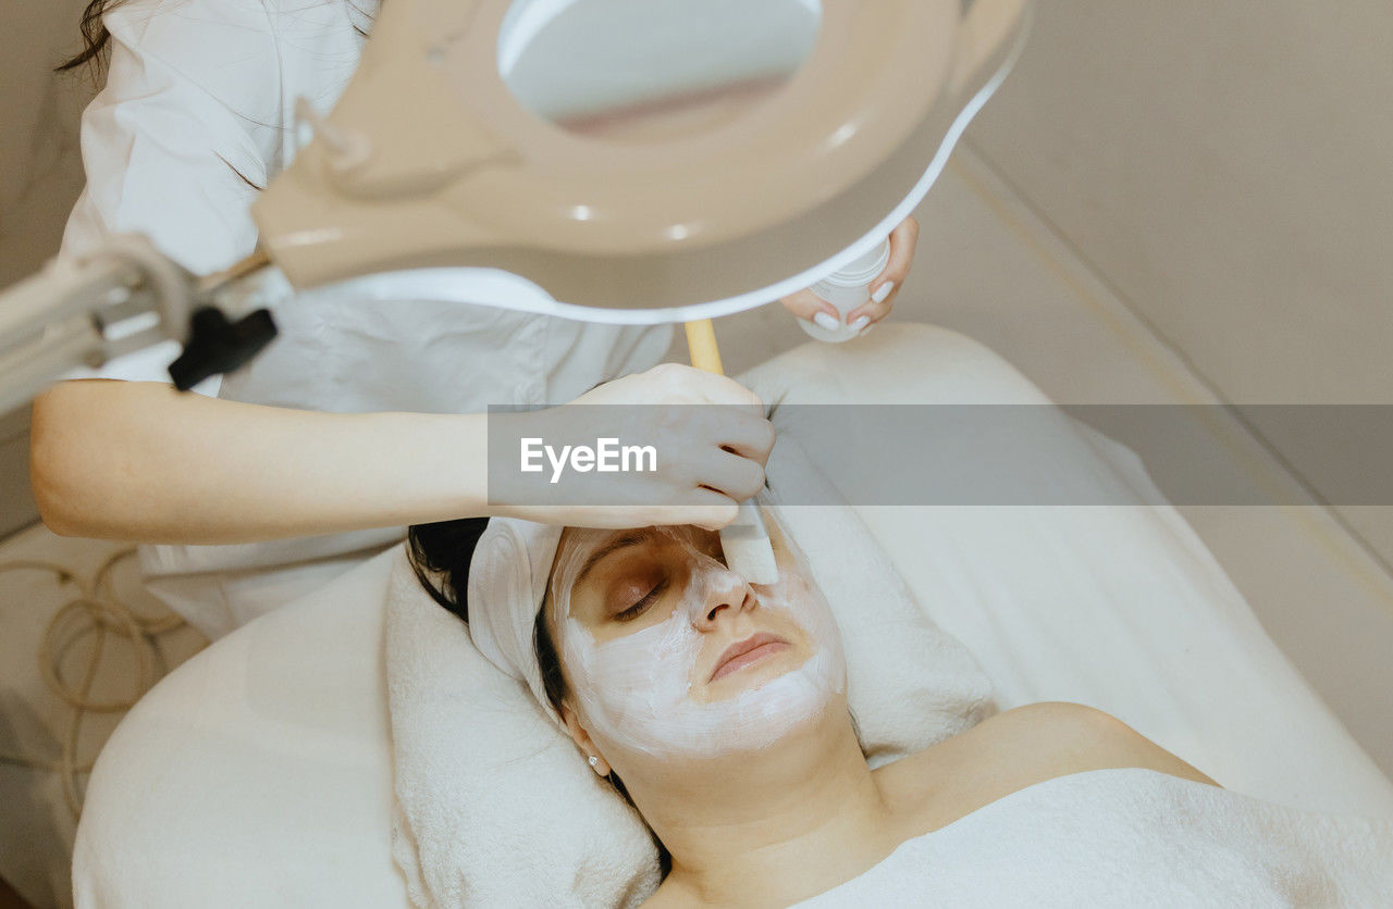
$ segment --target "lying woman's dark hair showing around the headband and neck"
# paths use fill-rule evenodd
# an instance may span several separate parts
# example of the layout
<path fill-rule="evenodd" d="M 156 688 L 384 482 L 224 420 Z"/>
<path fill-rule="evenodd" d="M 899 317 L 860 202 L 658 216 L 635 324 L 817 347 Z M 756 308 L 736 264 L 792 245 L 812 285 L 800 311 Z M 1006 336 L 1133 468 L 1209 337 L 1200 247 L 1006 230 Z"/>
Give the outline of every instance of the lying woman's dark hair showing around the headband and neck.
<path fill-rule="evenodd" d="M 474 560 L 474 550 L 488 523 L 488 518 L 461 518 L 439 523 L 418 523 L 407 529 L 411 569 L 415 571 L 421 586 L 426 589 L 432 600 L 458 615 L 465 624 L 469 622 L 469 562 Z M 432 582 L 430 575 L 439 579 L 439 585 Z M 561 702 L 566 700 L 568 692 L 566 672 L 561 670 L 561 656 L 546 622 L 546 610 L 536 612 L 536 621 L 532 625 L 532 647 L 542 671 L 546 699 L 560 716 Z M 634 805 L 634 799 L 628 795 L 618 774 L 612 770 L 606 780 L 616 792 L 624 796 L 625 802 Z M 652 830 L 649 832 L 652 834 Z M 663 877 L 666 877 L 671 870 L 671 855 L 656 835 L 653 835 L 653 845 L 657 846 L 659 864 Z"/>

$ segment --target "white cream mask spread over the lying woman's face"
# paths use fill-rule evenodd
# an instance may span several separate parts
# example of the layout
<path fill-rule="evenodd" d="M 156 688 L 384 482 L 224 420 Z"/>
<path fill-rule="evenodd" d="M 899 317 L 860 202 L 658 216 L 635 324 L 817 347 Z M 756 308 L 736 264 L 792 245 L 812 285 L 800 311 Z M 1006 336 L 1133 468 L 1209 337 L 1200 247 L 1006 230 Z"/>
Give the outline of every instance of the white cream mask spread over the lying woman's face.
<path fill-rule="evenodd" d="M 716 757 L 758 750 L 820 714 L 846 690 L 846 658 L 836 619 L 802 565 L 786 557 L 781 562 L 788 564 L 780 564 L 779 583 L 747 587 L 738 575 L 702 553 L 683 529 L 649 533 L 676 547 L 669 548 L 666 558 L 681 562 L 676 582 L 685 583 L 671 615 L 655 625 L 598 640 L 571 615 L 570 594 L 581 569 L 610 533 L 573 530 L 552 575 L 552 610 L 561 653 L 592 735 L 655 756 Z M 674 568 L 676 564 L 669 565 Z M 747 594 L 754 596 L 754 606 L 744 604 Z M 709 611 L 722 603 L 731 612 L 748 608 L 751 628 L 769 628 L 769 622 L 761 621 L 765 617 L 777 617 L 780 629 L 791 622 L 801 642 L 790 643 L 801 643 L 807 658 L 751 688 L 740 688 L 740 675 L 733 672 L 719 688 L 740 688 L 737 693 L 724 697 L 708 693 L 696 679 L 701 654 L 719 653 L 736 643 L 726 631 L 736 622 L 733 617 L 706 622 Z M 761 615 L 761 610 L 768 612 Z M 754 667 L 747 671 L 758 672 Z"/>

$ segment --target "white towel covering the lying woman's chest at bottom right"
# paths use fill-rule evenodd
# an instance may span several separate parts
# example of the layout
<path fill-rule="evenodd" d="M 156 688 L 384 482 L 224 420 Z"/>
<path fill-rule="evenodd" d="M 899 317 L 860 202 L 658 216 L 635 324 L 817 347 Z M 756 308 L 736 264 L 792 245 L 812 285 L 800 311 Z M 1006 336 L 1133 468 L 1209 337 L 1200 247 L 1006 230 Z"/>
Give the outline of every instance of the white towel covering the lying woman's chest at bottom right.
<path fill-rule="evenodd" d="M 798 905 L 1387 906 L 1393 823 L 1098 770 L 1014 792 Z"/>

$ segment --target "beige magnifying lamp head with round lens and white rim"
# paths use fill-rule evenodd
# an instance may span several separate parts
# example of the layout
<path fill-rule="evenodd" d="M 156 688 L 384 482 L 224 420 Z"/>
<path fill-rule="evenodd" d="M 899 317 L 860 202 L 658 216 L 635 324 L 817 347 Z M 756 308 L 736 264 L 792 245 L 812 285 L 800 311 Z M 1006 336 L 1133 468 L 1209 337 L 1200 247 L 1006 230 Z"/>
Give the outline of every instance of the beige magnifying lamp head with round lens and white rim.
<path fill-rule="evenodd" d="M 691 322 L 815 284 L 924 199 L 1027 0 L 389 0 L 252 207 L 295 287 Z M 382 274 L 384 273 L 384 274 Z M 410 291 L 407 290 L 410 288 Z"/>

